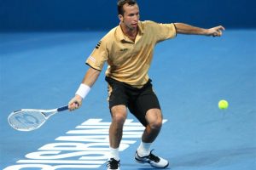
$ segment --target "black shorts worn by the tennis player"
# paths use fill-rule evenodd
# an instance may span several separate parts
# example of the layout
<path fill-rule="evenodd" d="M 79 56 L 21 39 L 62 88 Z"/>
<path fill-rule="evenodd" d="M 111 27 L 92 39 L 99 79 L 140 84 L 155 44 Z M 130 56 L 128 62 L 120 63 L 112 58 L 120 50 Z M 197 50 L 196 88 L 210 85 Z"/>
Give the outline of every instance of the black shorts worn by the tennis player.
<path fill-rule="evenodd" d="M 125 105 L 137 117 L 144 127 L 147 126 L 146 113 L 149 109 L 160 109 L 159 100 L 154 94 L 151 80 L 143 88 L 134 88 L 125 82 L 119 82 L 106 77 L 108 82 L 109 109 L 114 105 Z"/>

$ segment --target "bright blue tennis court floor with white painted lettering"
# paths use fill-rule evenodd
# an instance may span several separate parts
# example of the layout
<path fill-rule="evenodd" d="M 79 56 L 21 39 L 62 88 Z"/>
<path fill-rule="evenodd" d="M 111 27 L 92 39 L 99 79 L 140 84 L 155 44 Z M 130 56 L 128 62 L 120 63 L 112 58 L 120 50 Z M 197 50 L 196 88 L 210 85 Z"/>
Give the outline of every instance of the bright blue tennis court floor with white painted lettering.
<path fill-rule="evenodd" d="M 7 122 L 20 108 L 67 105 L 106 32 L 0 34 L 0 169 L 106 169 L 111 120 L 104 72 L 78 111 L 52 116 L 29 133 Z M 152 149 L 170 161 L 167 169 L 256 169 L 255 59 L 255 30 L 178 35 L 156 46 L 149 74 L 166 122 Z M 220 99 L 230 102 L 228 110 L 218 109 Z M 143 127 L 128 119 L 121 169 L 153 169 L 134 161 Z"/>

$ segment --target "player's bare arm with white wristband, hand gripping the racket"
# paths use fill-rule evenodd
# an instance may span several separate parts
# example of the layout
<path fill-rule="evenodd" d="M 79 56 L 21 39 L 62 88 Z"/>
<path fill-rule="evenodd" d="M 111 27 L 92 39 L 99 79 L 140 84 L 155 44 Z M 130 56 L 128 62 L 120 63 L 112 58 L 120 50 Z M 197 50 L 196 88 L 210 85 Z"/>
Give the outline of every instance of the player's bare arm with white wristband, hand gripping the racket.
<path fill-rule="evenodd" d="M 78 109 L 82 105 L 82 101 L 85 96 L 90 92 L 90 88 L 96 82 L 97 78 L 99 77 L 101 71 L 98 71 L 93 68 L 89 68 L 84 75 L 83 82 L 80 84 L 80 87 L 73 97 L 68 103 L 68 110 L 73 111 Z"/>

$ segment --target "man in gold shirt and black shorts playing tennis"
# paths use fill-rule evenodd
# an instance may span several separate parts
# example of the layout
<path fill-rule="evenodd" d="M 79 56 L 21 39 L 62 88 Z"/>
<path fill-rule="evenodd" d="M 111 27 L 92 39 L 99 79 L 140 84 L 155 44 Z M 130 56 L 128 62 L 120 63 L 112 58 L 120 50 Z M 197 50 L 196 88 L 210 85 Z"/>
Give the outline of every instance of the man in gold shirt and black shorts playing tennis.
<path fill-rule="evenodd" d="M 73 111 L 82 105 L 82 100 L 99 77 L 105 62 L 108 63 L 108 102 L 112 116 L 109 127 L 110 154 L 108 169 L 119 169 L 119 144 L 127 109 L 137 117 L 145 128 L 135 160 L 149 163 L 152 167 L 167 167 L 169 162 L 154 156 L 150 145 L 160 133 L 163 116 L 157 96 L 148 77 L 148 69 L 156 43 L 176 37 L 177 34 L 196 34 L 220 37 L 223 26 L 203 29 L 182 23 L 159 24 L 140 21 L 136 0 L 119 0 L 119 26 L 116 26 L 97 44 L 86 60 L 90 68 L 68 106 Z"/>

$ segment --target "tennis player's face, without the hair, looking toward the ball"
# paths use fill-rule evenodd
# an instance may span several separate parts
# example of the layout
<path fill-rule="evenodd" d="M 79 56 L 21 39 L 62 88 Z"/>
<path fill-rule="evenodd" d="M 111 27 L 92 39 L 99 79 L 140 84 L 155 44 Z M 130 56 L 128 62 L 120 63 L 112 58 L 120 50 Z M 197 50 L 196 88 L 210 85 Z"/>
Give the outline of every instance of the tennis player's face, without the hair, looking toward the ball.
<path fill-rule="evenodd" d="M 128 3 L 125 3 L 123 8 L 125 14 L 124 16 L 119 15 L 119 19 L 130 30 L 137 29 L 138 20 L 140 20 L 140 13 L 137 4 L 129 5 Z"/>

